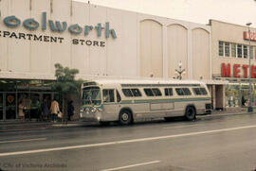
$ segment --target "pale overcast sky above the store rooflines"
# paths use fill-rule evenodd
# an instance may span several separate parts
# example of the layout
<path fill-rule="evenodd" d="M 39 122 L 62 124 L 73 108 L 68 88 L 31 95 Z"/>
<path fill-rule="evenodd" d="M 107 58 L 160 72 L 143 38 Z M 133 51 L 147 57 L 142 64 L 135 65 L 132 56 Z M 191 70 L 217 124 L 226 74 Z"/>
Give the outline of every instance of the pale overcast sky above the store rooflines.
<path fill-rule="evenodd" d="M 256 0 L 90 0 L 90 4 L 203 25 L 214 19 L 242 26 L 252 23 L 256 27 Z"/>

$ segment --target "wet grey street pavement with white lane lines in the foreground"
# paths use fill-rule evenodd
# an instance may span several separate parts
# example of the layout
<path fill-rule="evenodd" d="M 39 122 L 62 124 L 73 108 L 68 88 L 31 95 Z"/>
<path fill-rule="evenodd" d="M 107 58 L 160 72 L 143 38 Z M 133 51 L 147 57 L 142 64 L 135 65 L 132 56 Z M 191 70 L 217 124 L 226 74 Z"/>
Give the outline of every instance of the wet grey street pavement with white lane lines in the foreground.
<path fill-rule="evenodd" d="M 0 132 L 2 170 L 252 171 L 256 113 Z"/>

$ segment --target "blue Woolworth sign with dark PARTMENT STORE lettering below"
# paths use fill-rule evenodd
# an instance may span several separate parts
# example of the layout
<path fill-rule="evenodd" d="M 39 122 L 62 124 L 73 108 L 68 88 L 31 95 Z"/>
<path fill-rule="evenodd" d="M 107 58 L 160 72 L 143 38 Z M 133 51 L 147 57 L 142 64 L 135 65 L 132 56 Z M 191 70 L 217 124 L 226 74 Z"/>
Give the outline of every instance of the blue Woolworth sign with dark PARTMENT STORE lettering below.
<path fill-rule="evenodd" d="M 32 34 L 34 30 L 41 29 L 43 32 L 46 31 L 47 27 L 55 33 L 63 33 L 67 31 L 72 35 L 83 35 L 85 38 L 90 34 L 96 34 L 98 38 L 101 38 L 104 35 L 105 39 L 112 37 L 113 39 L 117 38 L 117 34 L 115 29 L 110 28 L 109 22 L 105 24 L 99 23 L 97 26 L 80 26 L 79 24 L 73 24 L 68 26 L 66 22 L 47 20 L 46 12 L 42 13 L 42 20 L 36 21 L 33 18 L 25 19 L 21 21 L 15 15 L 4 17 L 3 23 L 5 26 L 9 28 L 18 28 L 23 25 L 29 33 L 24 32 L 16 32 L 9 30 L 1 30 L 0 29 L 0 37 L 4 38 L 14 38 L 18 40 L 28 40 L 28 41 L 39 41 L 39 42 L 50 42 L 50 43 L 63 43 L 63 37 L 49 36 L 49 35 L 38 35 Z M 1 28 L 1 25 L 0 25 Z M 81 45 L 93 45 L 93 46 L 105 46 L 104 41 L 94 41 L 94 40 L 85 40 L 85 39 L 72 39 L 73 44 L 81 44 Z"/>

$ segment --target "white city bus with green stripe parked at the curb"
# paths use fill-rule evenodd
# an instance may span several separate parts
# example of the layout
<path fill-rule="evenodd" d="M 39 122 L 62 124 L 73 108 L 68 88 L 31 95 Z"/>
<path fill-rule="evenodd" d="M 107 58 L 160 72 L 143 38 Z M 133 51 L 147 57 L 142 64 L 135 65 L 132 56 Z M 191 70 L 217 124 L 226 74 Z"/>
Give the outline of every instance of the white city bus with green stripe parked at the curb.
<path fill-rule="evenodd" d="M 82 85 L 81 118 L 129 125 L 137 118 L 165 118 L 211 111 L 205 83 L 176 79 L 94 79 Z"/>

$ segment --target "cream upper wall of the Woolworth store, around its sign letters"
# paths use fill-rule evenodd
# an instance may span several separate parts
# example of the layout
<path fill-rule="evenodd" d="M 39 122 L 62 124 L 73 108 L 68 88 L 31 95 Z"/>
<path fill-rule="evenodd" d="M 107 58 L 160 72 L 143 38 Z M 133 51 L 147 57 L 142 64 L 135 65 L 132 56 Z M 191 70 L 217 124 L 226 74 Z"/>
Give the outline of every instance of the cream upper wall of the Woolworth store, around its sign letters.
<path fill-rule="evenodd" d="M 30 4 L 31 2 L 31 4 Z M 201 37 L 210 39 L 204 32 L 198 32 L 192 41 L 192 30 L 203 28 L 210 32 L 210 26 L 197 25 L 163 17 L 139 14 L 120 9 L 110 9 L 88 5 L 70 0 L 2 0 L 0 1 L 0 77 L 13 78 L 54 78 L 54 64 L 62 63 L 70 68 L 78 68 L 80 77 L 118 76 L 118 77 L 174 77 L 177 62 L 182 60 L 187 71 L 186 78 L 198 78 L 192 62 L 197 54 L 192 49 Z M 27 30 L 22 24 L 9 28 L 3 23 L 4 18 L 15 15 L 22 22 L 34 18 L 42 24 L 42 12 L 46 11 L 47 20 L 66 22 L 67 26 L 104 27 L 106 22 L 114 28 L 117 38 L 101 37 L 94 29 L 88 36 L 64 32 L 54 32 L 47 25 L 45 31 L 39 26 L 36 30 Z M 3 31 L 26 33 L 64 38 L 63 43 L 46 43 L 15 38 L 4 38 Z M 84 29 L 83 29 L 84 31 Z M 194 34 L 193 34 L 194 35 Z M 207 37 L 205 37 L 207 36 Z M 104 42 L 104 47 L 73 44 L 72 39 Z M 207 41 L 207 40 L 206 40 Z M 194 43 L 192 45 L 192 43 Z M 196 46 L 196 47 L 195 47 Z M 205 48 L 205 46 L 203 46 Z M 210 59 L 210 49 L 206 46 L 200 58 Z M 197 57 L 196 57 L 197 58 Z M 200 60 L 199 58 L 199 60 Z M 196 60 L 198 61 L 198 60 Z M 203 60 L 209 66 L 210 60 Z M 210 73 L 210 68 L 204 68 Z M 206 77 L 209 78 L 209 77 Z"/>

